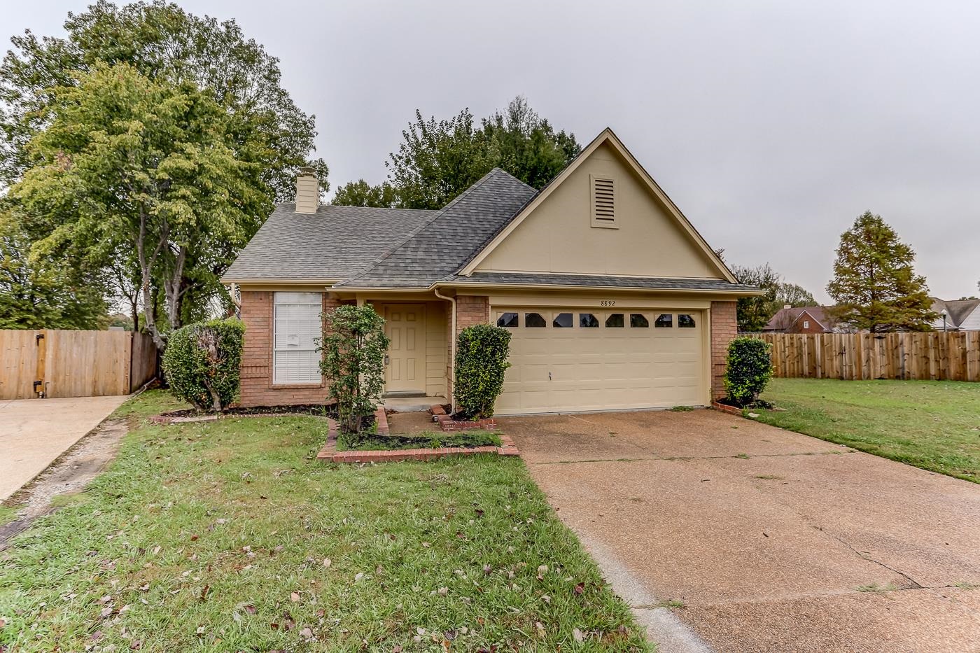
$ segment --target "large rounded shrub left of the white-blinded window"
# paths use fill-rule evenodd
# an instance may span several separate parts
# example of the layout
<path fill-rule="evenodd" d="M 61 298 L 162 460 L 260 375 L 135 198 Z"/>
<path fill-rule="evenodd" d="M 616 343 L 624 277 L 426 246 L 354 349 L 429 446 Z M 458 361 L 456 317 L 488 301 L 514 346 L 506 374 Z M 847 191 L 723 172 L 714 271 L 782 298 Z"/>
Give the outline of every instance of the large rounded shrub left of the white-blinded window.
<path fill-rule="evenodd" d="M 199 410 L 223 411 L 238 399 L 244 338 L 245 325 L 235 318 L 172 331 L 161 362 L 171 392 Z"/>

